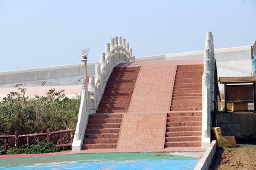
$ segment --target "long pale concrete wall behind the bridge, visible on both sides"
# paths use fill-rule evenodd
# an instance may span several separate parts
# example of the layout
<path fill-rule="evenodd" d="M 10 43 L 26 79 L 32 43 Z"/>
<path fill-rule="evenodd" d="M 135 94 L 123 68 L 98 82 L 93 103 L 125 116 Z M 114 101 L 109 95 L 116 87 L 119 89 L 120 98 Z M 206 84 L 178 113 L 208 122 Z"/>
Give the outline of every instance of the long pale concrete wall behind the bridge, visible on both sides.
<path fill-rule="evenodd" d="M 162 54 L 156 56 L 136 57 L 136 62 L 148 60 L 170 60 L 170 59 L 204 59 L 204 51 L 192 51 L 176 54 Z M 251 76 L 254 73 L 251 46 L 215 49 L 218 77 Z M 95 64 L 87 63 L 87 75 L 95 74 Z M 75 65 L 61 65 L 55 67 L 35 68 L 18 71 L 0 72 L 0 88 L 11 88 L 18 83 L 33 86 L 44 80 L 66 79 L 61 85 L 79 85 L 84 75 L 83 63 Z M 75 84 L 68 84 L 68 80 L 78 80 Z M 39 82 L 38 82 L 39 81 Z M 72 82 L 70 80 L 70 82 Z M 25 83 L 29 82 L 29 83 Z M 51 85 L 51 83 L 49 83 Z M 35 85 L 36 86 L 36 85 Z M 22 87 L 22 86 L 21 86 Z"/>

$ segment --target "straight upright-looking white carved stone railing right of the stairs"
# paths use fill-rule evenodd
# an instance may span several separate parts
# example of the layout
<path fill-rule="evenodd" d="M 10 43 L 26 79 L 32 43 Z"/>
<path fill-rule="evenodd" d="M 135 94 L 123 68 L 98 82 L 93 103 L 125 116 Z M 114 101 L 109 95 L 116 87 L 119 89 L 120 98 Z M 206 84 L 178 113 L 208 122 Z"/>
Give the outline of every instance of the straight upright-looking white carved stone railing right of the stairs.
<path fill-rule="evenodd" d="M 211 140 L 211 115 L 216 111 L 218 95 L 217 68 L 212 32 L 207 32 L 204 50 L 204 74 L 202 85 L 202 148 L 208 148 Z"/>

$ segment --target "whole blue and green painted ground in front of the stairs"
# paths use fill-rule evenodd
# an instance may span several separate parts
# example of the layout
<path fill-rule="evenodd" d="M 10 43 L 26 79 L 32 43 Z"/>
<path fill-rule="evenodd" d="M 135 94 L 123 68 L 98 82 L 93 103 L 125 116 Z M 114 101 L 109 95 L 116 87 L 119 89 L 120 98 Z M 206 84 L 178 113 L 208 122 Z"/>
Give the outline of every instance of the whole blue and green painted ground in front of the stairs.
<path fill-rule="evenodd" d="M 199 160 L 168 153 L 91 153 L 0 159 L 0 169 L 193 170 Z"/>

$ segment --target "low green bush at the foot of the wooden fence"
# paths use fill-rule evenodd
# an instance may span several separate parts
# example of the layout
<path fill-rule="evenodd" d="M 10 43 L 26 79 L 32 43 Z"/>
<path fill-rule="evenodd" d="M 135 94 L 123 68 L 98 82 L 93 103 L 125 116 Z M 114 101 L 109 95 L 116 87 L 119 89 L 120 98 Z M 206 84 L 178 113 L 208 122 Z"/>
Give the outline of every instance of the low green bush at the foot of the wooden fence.
<path fill-rule="evenodd" d="M 10 148 L 6 154 L 32 154 L 32 153 L 51 153 L 62 151 L 64 148 L 57 147 L 52 142 L 40 142 L 40 145 L 32 144 L 30 147 Z"/>

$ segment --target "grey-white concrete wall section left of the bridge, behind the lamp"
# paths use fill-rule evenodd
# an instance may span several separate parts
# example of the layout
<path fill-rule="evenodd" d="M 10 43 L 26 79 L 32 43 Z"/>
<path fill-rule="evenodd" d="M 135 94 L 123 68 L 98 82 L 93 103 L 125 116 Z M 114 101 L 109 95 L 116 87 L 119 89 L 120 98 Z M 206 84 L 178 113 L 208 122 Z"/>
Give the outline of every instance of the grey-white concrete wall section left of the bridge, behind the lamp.
<path fill-rule="evenodd" d="M 87 75 L 94 75 L 95 65 L 87 63 Z M 61 65 L 45 68 L 0 72 L 0 88 L 81 85 L 84 77 L 84 64 Z M 80 80 L 80 81 L 79 81 Z"/>

